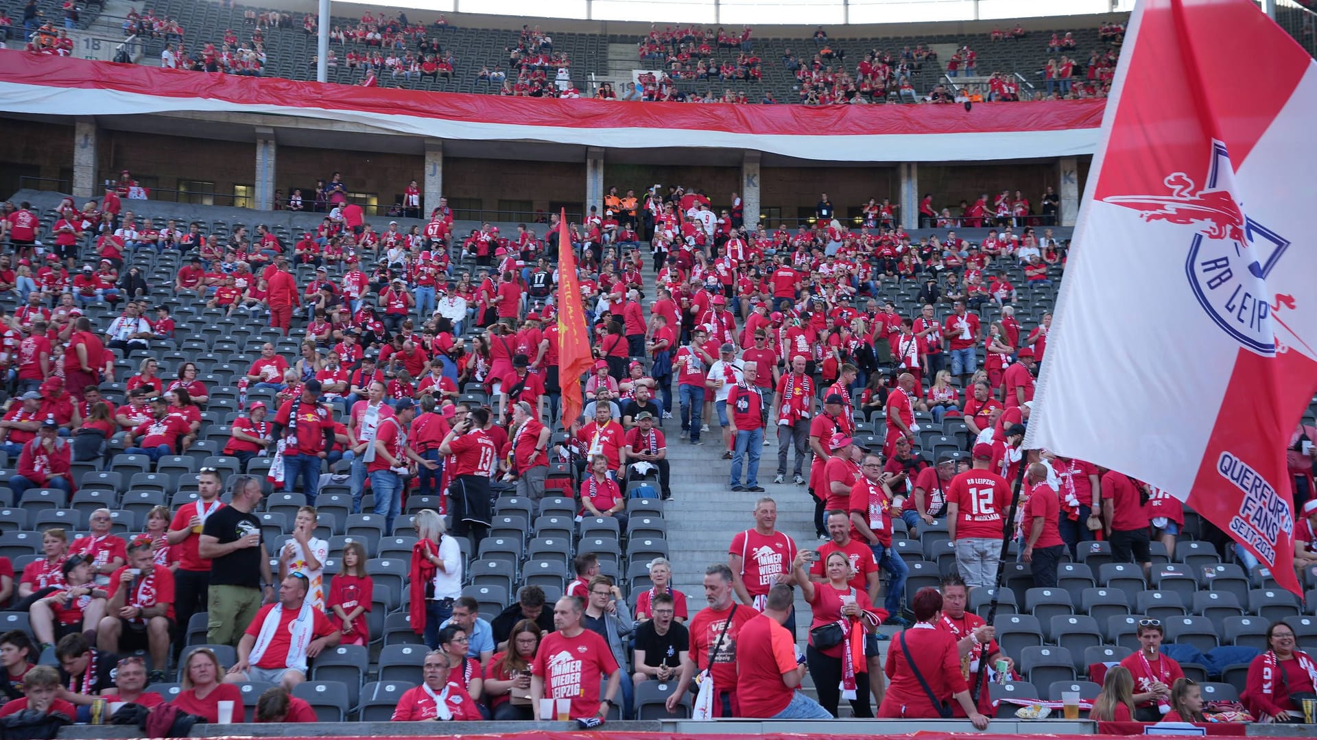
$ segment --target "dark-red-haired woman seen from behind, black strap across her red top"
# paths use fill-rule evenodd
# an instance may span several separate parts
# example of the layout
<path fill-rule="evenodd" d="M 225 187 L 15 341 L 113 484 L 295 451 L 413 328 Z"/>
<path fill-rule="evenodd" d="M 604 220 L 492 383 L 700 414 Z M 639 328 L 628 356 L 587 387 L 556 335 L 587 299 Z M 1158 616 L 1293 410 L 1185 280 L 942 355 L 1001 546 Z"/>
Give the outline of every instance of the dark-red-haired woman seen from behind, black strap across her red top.
<path fill-rule="evenodd" d="M 950 716 L 946 703 L 947 699 L 954 699 L 975 728 L 985 729 L 988 718 L 977 711 L 969 698 L 965 677 L 960 672 L 956 640 L 932 624 L 942 611 L 942 594 L 932 587 L 919 589 L 919 593 L 910 599 L 910 607 L 915 623 L 892 639 L 884 669 L 888 675 L 888 693 L 882 697 L 878 716 L 902 719 Z M 925 685 L 928 690 L 923 689 Z"/>

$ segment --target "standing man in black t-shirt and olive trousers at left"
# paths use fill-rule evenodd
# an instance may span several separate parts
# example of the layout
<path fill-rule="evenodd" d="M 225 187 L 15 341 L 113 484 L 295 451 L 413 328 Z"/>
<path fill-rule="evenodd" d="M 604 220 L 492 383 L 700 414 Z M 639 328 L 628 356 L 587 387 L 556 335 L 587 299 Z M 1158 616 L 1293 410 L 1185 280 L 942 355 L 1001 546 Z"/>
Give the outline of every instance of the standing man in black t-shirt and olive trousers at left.
<path fill-rule="evenodd" d="M 261 608 L 262 594 L 263 600 L 274 599 L 270 554 L 261 540 L 261 520 L 252 514 L 262 495 L 259 481 L 240 475 L 232 503 L 205 517 L 202 527 L 198 554 L 211 561 L 205 639 L 212 645 L 237 648 Z"/>

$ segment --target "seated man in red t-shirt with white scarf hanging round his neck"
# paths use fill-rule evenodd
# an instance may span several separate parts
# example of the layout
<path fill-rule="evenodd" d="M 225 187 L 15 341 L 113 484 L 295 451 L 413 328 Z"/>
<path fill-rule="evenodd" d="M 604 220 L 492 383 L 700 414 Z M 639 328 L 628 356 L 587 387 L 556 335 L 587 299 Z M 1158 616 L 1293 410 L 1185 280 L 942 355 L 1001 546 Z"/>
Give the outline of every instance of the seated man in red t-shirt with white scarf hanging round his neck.
<path fill-rule="evenodd" d="M 279 602 L 257 612 L 238 641 L 238 662 L 225 682 L 263 681 L 291 690 L 307 679 L 307 658 L 338 644 L 338 631 L 312 608 L 307 587 L 307 577 L 299 573 L 279 583 Z"/>

